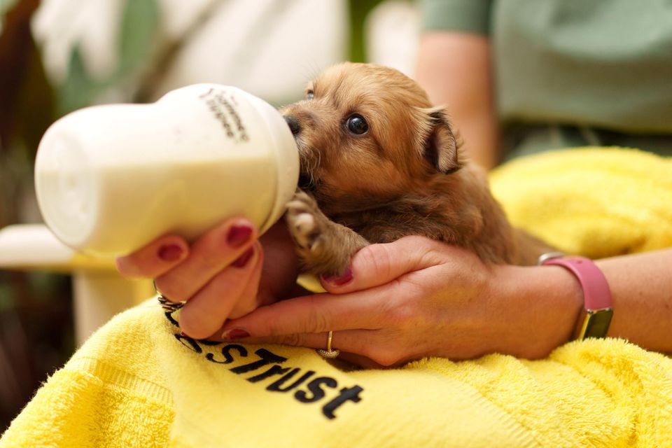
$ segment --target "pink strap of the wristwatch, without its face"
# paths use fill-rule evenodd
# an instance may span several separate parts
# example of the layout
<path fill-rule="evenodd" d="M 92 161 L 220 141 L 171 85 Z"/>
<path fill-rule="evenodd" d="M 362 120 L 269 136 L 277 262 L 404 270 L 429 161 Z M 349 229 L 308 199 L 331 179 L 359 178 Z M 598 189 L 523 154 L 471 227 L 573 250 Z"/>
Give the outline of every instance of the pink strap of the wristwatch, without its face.
<path fill-rule="evenodd" d="M 584 307 L 588 311 L 611 308 L 611 291 L 604 274 L 594 262 L 584 257 L 549 258 L 542 265 L 558 265 L 569 269 L 583 288 Z"/>

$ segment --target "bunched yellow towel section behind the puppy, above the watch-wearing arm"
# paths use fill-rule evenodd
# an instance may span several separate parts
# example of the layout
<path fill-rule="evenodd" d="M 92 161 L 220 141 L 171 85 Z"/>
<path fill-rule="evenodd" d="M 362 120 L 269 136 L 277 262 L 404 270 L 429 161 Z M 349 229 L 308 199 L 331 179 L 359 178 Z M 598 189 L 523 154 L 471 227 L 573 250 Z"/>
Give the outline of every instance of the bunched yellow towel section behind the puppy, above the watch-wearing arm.
<path fill-rule="evenodd" d="M 672 246 L 672 159 L 574 148 L 513 160 L 490 176 L 510 221 L 566 253 L 603 258 Z"/>

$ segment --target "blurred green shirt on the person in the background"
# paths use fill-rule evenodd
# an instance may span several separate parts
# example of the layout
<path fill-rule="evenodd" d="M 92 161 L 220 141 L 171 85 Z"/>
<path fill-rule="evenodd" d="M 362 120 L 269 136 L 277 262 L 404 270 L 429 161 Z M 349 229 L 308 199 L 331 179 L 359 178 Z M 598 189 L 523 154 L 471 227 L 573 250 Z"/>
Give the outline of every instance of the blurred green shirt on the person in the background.
<path fill-rule="evenodd" d="M 490 36 L 503 123 L 672 153 L 672 1 L 423 0 L 423 24 Z"/>

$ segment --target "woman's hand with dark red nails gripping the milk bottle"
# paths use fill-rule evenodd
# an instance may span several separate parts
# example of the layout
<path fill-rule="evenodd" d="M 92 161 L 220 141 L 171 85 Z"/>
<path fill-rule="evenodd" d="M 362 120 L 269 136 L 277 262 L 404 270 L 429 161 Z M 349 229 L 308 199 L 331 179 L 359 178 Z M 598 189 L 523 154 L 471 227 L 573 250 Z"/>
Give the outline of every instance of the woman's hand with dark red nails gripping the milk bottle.
<path fill-rule="evenodd" d="M 165 235 L 116 261 L 124 276 L 155 279 L 167 299 L 186 301 L 180 328 L 197 339 L 218 337 L 227 318 L 287 297 L 298 272 L 284 223 L 258 239 L 258 230 L 245 218 L 225 221 L 191 245 Z"/>

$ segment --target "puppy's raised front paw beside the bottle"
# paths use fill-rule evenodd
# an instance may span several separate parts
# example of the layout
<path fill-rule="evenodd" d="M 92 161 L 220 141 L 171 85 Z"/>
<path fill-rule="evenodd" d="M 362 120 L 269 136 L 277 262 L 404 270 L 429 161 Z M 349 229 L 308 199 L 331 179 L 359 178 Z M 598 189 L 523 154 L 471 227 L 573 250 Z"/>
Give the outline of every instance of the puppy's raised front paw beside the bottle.
<path fill-rule="evenodd" d="M 286 219 L 289 231 L 304 255 L 320 253 L 330 221 L 320 211 L 317 202 L 302 191 L 295 193 L 287 204 Z"/>

